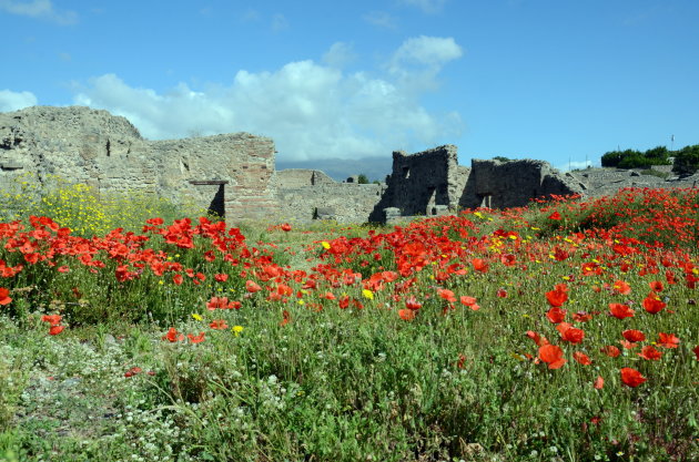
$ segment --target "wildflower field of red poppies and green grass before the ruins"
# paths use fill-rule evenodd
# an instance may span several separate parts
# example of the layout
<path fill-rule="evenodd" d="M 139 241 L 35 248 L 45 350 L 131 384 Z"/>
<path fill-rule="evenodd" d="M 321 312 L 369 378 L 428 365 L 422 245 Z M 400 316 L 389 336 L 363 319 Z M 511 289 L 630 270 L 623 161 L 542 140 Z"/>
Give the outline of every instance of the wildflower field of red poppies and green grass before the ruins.
<path fill-rule="evenodd" d="M 696 188 L 0 243 L 0 460 L 699 459 Z"/>

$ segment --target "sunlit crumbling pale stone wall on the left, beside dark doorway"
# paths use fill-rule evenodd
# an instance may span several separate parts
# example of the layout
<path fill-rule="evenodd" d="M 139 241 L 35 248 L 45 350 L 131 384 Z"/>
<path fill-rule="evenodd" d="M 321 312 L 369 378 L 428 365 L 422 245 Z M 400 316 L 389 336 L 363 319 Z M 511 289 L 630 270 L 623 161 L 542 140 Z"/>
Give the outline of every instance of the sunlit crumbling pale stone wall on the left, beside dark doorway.
<path fill-rule="evenodd" d="M 124 117 L 89 107 L 34 106 L 0 114 L 0 186 L 31 173 L 100 193 L 140 191 L 209 208 L 226 219 L 276 212 L 274 143 L 247 133 L 148 141 Z M 216 182 L 195 185 L 192 182 Z"/>

